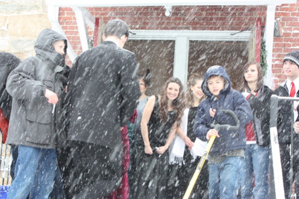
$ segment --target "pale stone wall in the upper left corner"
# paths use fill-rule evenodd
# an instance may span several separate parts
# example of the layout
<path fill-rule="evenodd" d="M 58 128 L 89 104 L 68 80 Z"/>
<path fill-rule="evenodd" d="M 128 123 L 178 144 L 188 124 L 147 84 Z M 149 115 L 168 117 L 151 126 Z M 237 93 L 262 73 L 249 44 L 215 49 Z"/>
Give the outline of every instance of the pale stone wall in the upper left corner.
<path fill-rule="evenodd" d="M 51 27 L 45 0 L 0 0 L 0 10 L 0 51 L 34 56 L 37 35 Z"/>

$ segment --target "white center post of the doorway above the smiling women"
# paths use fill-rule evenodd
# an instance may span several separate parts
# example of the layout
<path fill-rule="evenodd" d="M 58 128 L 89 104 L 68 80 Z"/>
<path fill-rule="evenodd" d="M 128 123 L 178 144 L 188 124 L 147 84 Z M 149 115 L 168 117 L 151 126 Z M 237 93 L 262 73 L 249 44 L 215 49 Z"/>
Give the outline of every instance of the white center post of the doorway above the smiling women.
<path fill-rule="evenodd" d="M 175 39 L 174 47 L 174 66 L 173 77 L 177 77 L 182 81 L 183 85 L 187 83 L 188 74 L 188 53 L 189 41 L 185 36 L 179 36 Z"/>

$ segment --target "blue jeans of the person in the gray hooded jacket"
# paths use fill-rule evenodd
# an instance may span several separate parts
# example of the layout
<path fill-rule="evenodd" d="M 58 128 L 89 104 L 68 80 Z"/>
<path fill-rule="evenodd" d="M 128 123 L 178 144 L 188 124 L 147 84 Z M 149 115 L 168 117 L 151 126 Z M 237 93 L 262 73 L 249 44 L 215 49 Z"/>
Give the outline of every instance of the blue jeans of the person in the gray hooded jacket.
<path fill-rule="evenodd" d="M 55 149 L 18 146 L 15 178 L 7 199 L 48 199 L 53 189 L 57 157 Z"/>

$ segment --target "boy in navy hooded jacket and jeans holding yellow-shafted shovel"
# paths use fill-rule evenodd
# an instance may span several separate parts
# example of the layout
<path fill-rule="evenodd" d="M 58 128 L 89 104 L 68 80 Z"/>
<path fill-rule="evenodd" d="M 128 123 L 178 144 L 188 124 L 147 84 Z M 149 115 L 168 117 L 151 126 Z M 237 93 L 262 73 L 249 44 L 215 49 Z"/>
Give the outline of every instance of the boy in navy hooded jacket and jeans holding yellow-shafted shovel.
<path fill-rule="evenodd" d="M 209 198 L 237 199 L 245 148 L 245 125 L 253 116 L 249 103 L 238 91 L 231 89 L 228 74 L 221 66 L 212 66 L 201 85 L 207 99 L 198 106 L 194 133 L 203 141 L 216 136 L 209 153 Z M 215 130 L 211 124 L 235 126 L 232 116 L 221 110 L 232 110 L 240 120 L 238 130 Z"/>

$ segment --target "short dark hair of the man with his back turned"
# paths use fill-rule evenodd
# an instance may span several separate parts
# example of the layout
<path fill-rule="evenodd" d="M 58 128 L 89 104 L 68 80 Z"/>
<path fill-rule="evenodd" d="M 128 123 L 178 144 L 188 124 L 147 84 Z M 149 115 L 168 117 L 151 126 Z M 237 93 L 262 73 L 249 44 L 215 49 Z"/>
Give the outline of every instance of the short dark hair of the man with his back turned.
<path fill-rule="evenodd" d="M 117 36 L 121 38 L 123 35 L 129 37 L 129 27 L 127 23 L 120 19 L 109 21 L 105 27 L 105 36 Z"/>

